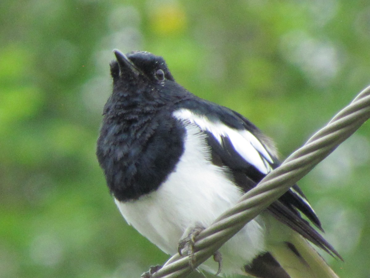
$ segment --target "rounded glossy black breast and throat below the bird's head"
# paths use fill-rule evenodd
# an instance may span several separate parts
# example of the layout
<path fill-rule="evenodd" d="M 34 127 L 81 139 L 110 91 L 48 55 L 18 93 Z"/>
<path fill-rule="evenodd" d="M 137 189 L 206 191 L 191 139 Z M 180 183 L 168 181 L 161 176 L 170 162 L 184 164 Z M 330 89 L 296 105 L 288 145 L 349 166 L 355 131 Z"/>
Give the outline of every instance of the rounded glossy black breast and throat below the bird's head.
<path fill-rule="evenodd" d="M 97 157 L 110 192 L 130 201 L 158 189 L 174 171 L 185 129 L 157 99 L 124 99 L 105 106 Z"/>

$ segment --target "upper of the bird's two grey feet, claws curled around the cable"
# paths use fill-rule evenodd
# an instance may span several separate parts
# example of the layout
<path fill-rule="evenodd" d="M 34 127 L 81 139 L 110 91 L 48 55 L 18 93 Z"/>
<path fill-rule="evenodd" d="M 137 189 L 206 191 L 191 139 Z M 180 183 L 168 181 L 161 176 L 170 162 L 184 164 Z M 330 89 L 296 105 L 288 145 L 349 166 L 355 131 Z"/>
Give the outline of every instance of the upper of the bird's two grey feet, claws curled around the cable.
<path fill-rule="evenodd" d="M 192 269 L 195 269 L 195 237 L 200 234 L 205 228 L 202 226 L 195 226 L 194 228 L 186 229 L 184 236 L 180 239 L 177 251 L 180 256 L 188 255 L 189 256 L 189 265 Z M 219 251 L 216 251 L 213 254 L 213 260 L 218 263 L 218 271 L 216 275 L 221 273 L 221 262 L 222 256 Z"/>

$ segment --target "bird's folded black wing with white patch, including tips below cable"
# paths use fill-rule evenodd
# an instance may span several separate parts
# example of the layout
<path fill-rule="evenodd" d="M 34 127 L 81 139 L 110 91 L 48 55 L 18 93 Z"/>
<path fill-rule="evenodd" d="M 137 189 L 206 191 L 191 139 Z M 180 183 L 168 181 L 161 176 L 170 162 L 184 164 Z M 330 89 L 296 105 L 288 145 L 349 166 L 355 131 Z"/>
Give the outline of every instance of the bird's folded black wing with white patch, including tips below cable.
<path fill-rule="evenodd" d="M 205 111 L 207 113 L 205 113 Z M 212 162 L 227 167 L 235 183 L 249 191 L 272 169 L 279 165 L 274 148 L 268 139 L 246 118 L 226 107 L 206 107 L 199 112 L 182 107 L 175 110 L 175 118 L 197 125 L 206 135 L 211 147 Z M 322 230 L 317 215 L 297 185 L 269 206 L 276 219 L 331 255 L 337 251 L 310 224 L 303 213 Z"/>

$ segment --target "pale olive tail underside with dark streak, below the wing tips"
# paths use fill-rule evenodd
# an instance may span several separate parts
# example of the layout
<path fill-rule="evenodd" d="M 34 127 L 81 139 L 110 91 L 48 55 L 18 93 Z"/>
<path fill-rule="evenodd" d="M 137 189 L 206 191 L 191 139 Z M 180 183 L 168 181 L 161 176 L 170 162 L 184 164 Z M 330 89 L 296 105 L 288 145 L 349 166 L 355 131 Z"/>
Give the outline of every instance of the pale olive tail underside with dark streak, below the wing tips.
<path fill-rule="evenodd" d="M 339 278 L 324 259 L 297 233 L 289 242 L 270 246 L 270 253 L 291 278 Z"/>

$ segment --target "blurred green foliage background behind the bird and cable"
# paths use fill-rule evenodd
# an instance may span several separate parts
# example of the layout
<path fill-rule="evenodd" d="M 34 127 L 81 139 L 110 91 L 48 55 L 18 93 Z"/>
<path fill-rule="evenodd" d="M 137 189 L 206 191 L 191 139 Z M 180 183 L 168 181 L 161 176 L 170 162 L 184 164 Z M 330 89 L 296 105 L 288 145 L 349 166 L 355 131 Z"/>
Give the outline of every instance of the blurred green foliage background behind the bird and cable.
<path fill-rule="evenodd" d="M 168 258 L 128 226 L 95 158 L 112 49 L 163 56 L 247 116 L 282 158 L 370 83 L 353 0 L 1 0 L 0 278 L 139 277 Z M 370 124 L 300 181 L 345 262 L 370 277 Z"/>

